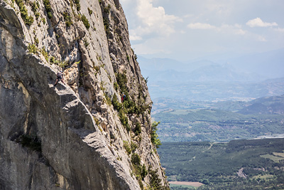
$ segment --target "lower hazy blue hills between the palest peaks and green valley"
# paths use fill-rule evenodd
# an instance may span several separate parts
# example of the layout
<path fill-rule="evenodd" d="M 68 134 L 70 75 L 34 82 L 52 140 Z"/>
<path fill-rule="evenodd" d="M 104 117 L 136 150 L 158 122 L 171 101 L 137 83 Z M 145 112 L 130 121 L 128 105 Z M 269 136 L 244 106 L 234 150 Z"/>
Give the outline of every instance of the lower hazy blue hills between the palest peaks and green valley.
<path fill-rule="evenodd" d="M 152 100 L 170 97 L 190 101 L 249 101 L 284 94 L 284 78 L 261 82 L 148 82 Z"/>

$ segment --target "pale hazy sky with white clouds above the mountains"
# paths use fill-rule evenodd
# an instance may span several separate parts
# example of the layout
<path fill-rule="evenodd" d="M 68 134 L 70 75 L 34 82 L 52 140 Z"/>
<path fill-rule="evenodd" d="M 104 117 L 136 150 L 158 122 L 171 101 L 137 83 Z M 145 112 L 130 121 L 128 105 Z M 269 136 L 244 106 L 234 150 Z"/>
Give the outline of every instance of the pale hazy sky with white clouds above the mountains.
<path fill-rule="evenodd" d="M 283 0 L 120 0 L 131 46 L 146 57 L 191 60 L 284 47 Z"/>

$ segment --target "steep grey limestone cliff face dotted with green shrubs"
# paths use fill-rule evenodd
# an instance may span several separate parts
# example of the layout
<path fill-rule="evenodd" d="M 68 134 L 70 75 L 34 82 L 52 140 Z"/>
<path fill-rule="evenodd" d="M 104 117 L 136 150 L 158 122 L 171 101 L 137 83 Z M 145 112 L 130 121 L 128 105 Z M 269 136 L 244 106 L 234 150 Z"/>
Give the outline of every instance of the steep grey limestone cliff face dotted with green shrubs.
<path fill-rule="evenodd" d="M 0 105 L 0 189 L 168 188 L 119 0 L 0 0 Z"/>

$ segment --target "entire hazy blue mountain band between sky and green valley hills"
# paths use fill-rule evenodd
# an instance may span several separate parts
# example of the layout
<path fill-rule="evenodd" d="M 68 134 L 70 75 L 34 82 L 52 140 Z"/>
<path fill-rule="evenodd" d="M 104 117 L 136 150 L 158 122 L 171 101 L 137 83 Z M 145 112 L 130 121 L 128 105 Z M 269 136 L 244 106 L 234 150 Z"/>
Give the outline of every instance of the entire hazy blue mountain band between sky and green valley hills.
<path fill-rule="evenodd" d="M 284 94 L 284 48 L 238 58 L 182 63 L 138 56 L 152 99 L 253 100 Z M 271 79 L 273 78 L 273 79 Z"/>

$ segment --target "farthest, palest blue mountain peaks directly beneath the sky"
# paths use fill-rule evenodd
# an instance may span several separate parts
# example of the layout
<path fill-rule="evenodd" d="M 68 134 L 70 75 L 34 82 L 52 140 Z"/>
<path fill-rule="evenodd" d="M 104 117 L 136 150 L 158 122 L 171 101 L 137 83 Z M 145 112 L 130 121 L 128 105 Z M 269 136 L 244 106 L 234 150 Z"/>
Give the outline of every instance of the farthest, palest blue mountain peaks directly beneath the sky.
<path fill-rule="evenodd" d="M 168 58 L 138 56 L 142 74 L 155 81 L 261 81 L 284 77 L 284 48 L 266 53 L 250 54 L 225 60 L 204 58 L 182 63 Z"/>

